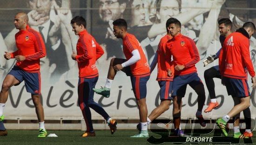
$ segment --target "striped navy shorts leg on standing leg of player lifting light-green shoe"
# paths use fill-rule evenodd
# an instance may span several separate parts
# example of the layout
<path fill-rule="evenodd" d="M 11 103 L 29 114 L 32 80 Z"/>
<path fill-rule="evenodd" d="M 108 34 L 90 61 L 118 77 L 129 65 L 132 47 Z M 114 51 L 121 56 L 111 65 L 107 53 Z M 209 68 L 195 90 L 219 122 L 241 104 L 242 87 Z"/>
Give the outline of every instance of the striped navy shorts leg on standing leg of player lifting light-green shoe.
<path fill-rule="evenodd" d="M 147 96 L 147 82 L 150 75 L 148 76 L 131 76 L 131 82 L 135 98 L 143 99 Z"/>

